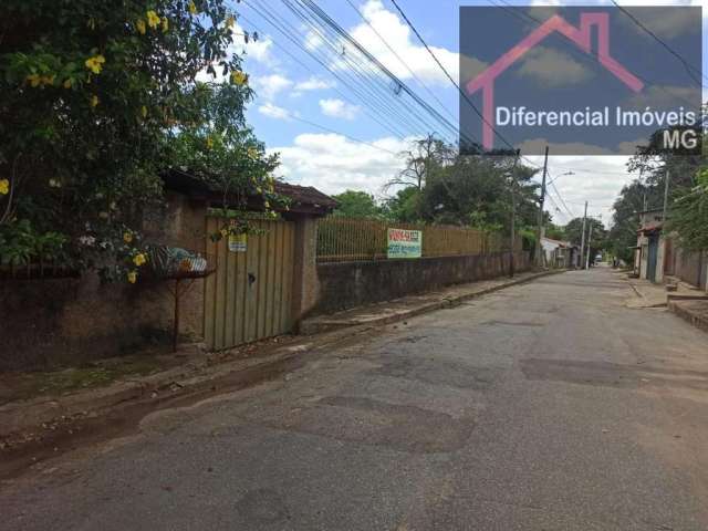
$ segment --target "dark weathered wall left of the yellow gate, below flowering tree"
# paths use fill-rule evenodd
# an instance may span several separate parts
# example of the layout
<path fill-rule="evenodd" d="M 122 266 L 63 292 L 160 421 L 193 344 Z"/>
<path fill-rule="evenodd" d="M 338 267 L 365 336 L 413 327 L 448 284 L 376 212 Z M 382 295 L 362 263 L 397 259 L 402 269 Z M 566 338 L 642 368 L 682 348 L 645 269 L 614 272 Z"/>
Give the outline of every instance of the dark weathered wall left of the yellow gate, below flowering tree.
<path fill-rule="evenodd" d="M 206 206 L 167 194 L 152 212 L 146 240 L 204 252 Z M 167 282 L 102 284 L 80 279 L 0 280 L 0 371 L 45 368 L 168 347 L 174 299 Z M 202 335 L 204 285 L 196 281 L 181 303 L 181 332 Z"/>

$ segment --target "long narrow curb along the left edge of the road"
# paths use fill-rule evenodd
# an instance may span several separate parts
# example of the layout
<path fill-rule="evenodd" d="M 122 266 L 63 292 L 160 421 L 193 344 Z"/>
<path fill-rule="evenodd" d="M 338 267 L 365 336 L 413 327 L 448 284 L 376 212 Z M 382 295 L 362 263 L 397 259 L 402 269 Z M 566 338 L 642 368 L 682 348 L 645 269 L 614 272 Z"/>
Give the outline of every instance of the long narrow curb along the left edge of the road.
<path fill-rule="evenodd" d="M 226 377 L 236 372 L 264 367 L 281 362 L 287 357 L 300 355 L 301 353 L 316 352 L 345 339 L 368 333 L 376 326 L 392 324 L 424 313 L 451 308 L 476 296 L 481 296 L 513 285 L 524 284 L 542 277 L 558 274 L 564 271 L 565 270 L 543 271 L 482 290 L 471 291 L 434 303 L 427 303 L 418 308 L 412 308 L 393 315 L 386 315 L 379 320 L 368 321 L 366 323 L 350 323 L 346 326 L 339 326 L 335 330 L 327 330 L 316 335 L 305 335 L 302 336 L 300 341 L 294 341 L 287 345 L 278 345 L 272 348 L 270 354 L 253 358 L 218 362 L 215 364 L 209 364 L 206 361 L 188 363 L 146 376 L 139 381 L 119 381 L 107 387 L 79 392 L 66 396 L 53 398 L 39 397 L 31 400 L 8 403 L 0 406 L 0 449 L 2 448 L 1 439 L 9 440 L 15 438 L 18 434 L 28 430 L 39 431 L 42 429 L 53 429 L 51 427 L 43 427 L 43 425 L 53 423 L 62 424 L 64 421 L 71 421 L 73 418 L 101 416 L 118 405 L 148 399 L 152 395 L 158 393 L 168 392 L 175 396 L 187 396 L 190 389 L 196 389 L 200 384 Z"/>

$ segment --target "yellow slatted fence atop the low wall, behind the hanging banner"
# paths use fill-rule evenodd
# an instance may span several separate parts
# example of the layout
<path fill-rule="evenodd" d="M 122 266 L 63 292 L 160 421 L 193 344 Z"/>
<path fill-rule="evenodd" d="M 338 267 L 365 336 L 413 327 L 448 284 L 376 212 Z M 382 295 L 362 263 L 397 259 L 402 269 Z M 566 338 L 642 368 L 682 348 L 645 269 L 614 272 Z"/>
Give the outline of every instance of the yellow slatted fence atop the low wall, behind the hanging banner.
<path fill-rule="evenodd" d="M 317 223 L 317 261 L 385 260 L 389 228 L 423 231 L 424 257 L 489 254 L 509 250 L 509 240 L 498 232 L 455 226 L 327 217 Z M 521 249 L 521 238 L 517 247 Z"/>

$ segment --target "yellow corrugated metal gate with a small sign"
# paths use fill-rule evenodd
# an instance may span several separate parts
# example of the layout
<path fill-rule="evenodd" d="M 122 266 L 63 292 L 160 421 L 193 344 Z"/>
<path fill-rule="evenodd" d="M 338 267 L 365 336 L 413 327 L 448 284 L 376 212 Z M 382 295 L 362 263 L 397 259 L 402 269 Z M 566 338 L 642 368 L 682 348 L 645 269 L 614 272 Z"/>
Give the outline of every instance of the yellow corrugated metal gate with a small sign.
<path fill-rule="evenodd" d="M 253 221 L 266 233 L 249 235 L 246 249 L 228 238 L 208 237 L 223 220 L 207 218 L 207 253 L 217 266 L 205 283 L 205 341 L 211 350 L 229 348 L 290 332 L 294 223 Z"/>

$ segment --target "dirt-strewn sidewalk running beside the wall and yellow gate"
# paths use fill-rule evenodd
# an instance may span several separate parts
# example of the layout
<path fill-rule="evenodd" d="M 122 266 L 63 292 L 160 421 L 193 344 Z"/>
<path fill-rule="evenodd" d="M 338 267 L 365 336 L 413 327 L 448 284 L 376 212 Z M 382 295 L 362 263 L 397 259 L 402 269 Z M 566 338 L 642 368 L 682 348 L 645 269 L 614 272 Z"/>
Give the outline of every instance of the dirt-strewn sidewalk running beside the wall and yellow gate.
<path fill-rule="evenodd" d="M 205 353 L 195 345 L 187 345 L 176 355 L 183 358 L 178 366 L 148 375 L 126 375 L 92 388 L 28 397 L 24 387 L 13 388 L 11 379 L 6 378 L 0 381 L 7 400 L 0 400 L 0 452 L 28 444 L 51 446 L 53 440 L 61 439 L 60 435 L 64 438 L 66 434 L 75 436 L 79 428 L 73 428 L 74 425 L 95 421 L 117 409 L 127 416 L 125 412 L 129 408 L 149 412 L 190 396 L 204 399 L 210 394 L 241 388 L 290 371 L 304 363 L 305 355 L 324 351 L 334 343 L 371 335 L 376 326 L 454 306 L 555 272 L 560 271 L 521 273 L 513 279 L 462 284 L 317 317 L 309 322 L 309 333 L 317 332 L 317 335 L 278 337 L 219 353 Z M 23 399 L 10 398 L 17 396 L 23 396 Z"/>

